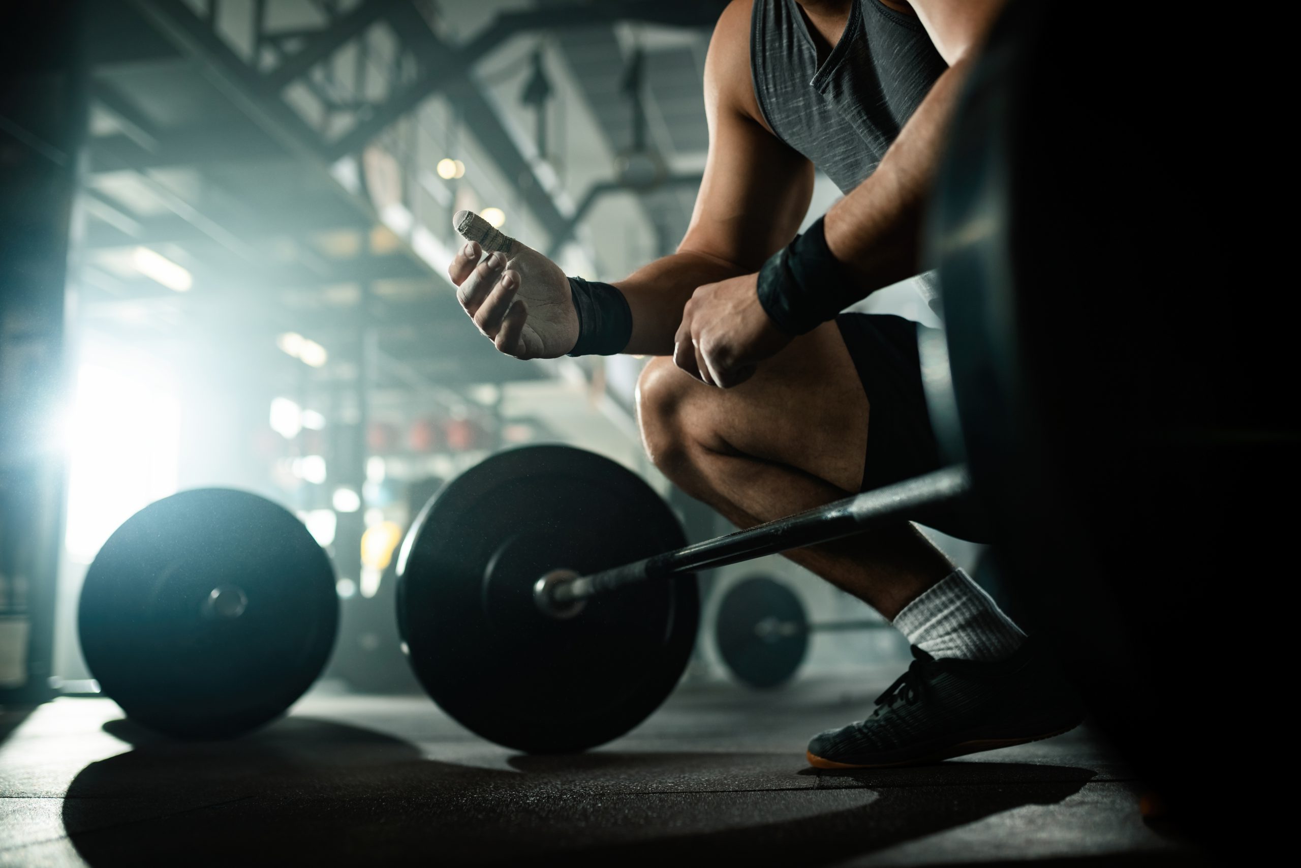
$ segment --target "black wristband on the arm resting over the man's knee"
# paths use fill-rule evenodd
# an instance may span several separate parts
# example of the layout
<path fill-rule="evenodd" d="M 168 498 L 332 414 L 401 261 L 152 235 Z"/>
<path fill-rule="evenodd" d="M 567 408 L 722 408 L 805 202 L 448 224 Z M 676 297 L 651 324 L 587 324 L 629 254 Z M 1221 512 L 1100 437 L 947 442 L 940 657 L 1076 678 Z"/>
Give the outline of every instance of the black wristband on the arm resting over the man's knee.
<path fill-rule="evenodd" d="M 758 269 L 758 303 L 790 337 L 812 332 L 859 301 L 855 289 L 826 246 L 822 217 Z"/>

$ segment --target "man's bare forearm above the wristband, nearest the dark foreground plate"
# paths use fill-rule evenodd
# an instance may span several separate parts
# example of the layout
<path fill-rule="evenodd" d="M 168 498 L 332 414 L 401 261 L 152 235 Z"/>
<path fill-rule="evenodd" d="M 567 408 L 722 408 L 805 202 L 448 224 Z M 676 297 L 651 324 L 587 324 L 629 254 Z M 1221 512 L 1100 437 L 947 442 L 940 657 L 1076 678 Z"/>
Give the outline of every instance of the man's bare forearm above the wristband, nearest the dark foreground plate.
<path fill-rule="evenodd" d="M 922 211 L 969 64 L 964 57 L 935 79 L 877 170 L 826 213 L 827 247 L 852 275 L 857 298 L 921 268 Z"/>

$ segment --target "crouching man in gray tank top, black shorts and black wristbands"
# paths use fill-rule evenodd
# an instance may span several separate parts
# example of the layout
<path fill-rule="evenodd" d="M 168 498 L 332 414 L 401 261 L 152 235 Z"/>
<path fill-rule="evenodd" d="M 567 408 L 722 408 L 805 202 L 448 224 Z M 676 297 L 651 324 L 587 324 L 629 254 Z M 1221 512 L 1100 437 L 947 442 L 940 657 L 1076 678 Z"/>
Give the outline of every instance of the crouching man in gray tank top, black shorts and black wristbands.
<path fill-rule="evenodd" d="M 739 527 L 937 468 L 919 327 L 840 311 L 917 272 L 945 122 L 998 7 L 735 0 L 705 62 L 709 159 L 678 251 L 588 282 L 459 212 L 461 303 L 516 358 L 658 357 L 637 390 L 647 452 Z M 796 236 L 814 167 L 846 195 Z M 913 526 L 788 557 L 915 657 L 870 717 L 813 738 L 813 765 L 933 761 L 1079 722 L 1043 651 Z"/>

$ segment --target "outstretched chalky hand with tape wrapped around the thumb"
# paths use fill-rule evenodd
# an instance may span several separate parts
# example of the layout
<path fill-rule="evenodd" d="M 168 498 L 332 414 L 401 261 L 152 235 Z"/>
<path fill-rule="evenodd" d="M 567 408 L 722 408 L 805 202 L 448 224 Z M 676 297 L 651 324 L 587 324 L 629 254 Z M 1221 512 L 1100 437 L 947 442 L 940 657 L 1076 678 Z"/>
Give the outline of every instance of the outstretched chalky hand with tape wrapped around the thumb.
<path fill-rule="evenodd" d="M 457 301 L 497 350 L 516 359 L 552 359 L 572 350 L 578 312 L 559 265 L 471 211 L 458 211 L 453 223 L 467 241 L 448 277 Z"/>

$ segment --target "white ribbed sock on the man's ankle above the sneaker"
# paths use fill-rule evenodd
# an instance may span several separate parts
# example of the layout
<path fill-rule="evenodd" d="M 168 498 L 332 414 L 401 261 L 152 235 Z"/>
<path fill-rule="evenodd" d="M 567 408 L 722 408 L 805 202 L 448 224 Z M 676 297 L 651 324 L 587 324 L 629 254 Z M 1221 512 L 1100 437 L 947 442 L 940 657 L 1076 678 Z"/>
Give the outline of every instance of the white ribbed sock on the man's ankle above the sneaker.
<path fill-rule="evenodd" d="M 894 626 L 932 657 L 1003 660 L 1025 634 L 963 570 L 954 570 L 895 617 Z"/>

